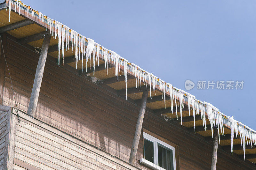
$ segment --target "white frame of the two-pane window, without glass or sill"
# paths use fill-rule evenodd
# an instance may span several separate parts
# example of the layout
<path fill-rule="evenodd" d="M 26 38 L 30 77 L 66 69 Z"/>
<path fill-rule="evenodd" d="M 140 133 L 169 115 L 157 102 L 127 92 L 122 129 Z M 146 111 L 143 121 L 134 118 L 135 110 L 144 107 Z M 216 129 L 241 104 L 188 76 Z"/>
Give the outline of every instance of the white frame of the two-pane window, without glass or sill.
<path fill-rule="evenodd" d="M 147 134 L 146 132 L 143 132 L 143 138 L 153 142 L 153 145 L 154 145 L 154 164 L 157 165 L 157 166 L 158 166 L 158 147 L 157 147 L 157 144 L 159 143 L 159 144 L 165 146 L 166 148 L 172 150 L 173 169 L 176 170 L 175 148 L 173 146 L 171 146 L 169 144 L 166 144 L 165 142 L 157 139 L 156 137 L 153 137 L 153 136 Z"/>

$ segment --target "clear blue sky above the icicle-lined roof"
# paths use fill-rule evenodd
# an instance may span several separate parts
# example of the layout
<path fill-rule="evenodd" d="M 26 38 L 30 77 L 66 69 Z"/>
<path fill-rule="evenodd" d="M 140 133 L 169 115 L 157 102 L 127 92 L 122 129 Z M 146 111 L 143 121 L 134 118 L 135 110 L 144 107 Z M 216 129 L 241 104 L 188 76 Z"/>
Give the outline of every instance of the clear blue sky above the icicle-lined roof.
<path fill-rule="evenodd" d="M 255 0 L 22 2 L 177 88 L 192 80 L 185 91 L 256 130 Z M 197 90 L 198 80 L 244 86 Z"/>

